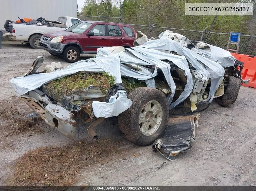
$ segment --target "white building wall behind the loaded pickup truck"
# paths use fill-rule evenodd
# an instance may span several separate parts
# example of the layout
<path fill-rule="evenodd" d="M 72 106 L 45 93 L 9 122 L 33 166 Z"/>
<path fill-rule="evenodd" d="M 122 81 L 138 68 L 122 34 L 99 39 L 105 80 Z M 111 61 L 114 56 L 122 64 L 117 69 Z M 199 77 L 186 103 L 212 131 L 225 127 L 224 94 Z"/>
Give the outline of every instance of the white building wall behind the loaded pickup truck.
<path fill-rule="evenodd" d="M 6 20 L 18 18 L 57 21 L 60 16 L 77 16 L 77 0 L 0 0 L 0 30 Z"/>

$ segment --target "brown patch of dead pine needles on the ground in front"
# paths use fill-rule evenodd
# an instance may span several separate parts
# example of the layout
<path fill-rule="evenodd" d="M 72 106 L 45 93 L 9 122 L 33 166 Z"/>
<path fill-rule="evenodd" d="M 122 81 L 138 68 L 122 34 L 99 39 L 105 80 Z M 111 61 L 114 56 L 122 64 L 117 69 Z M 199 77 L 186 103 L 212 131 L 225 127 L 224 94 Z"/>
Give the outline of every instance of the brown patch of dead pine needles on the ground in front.
<path fill-rule="evenodd" d="M 121 156 L 122 151 L 117 145 L 101 139 L 93 143 L 37 148 L 18 159 L 10 185 L 74 185 L 81 168 L 104 164 L 115 154 Z"/>

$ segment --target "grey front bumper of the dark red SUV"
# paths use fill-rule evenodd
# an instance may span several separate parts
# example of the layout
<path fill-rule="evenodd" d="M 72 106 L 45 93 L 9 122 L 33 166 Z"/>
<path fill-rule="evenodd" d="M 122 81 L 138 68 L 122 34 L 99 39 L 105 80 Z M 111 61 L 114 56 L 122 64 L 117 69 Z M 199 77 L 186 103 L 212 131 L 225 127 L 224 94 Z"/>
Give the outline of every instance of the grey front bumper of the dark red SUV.
<path fill-rule="evenodd" d="M 59 56 L 62 54 L 65 46 L 65 44 L 62 44 L 62 43 L 53 43 L 50 41 L 42 40 L 42 38 L 40 39 L 39 44 L 42 49 L 56 56 Z"/>

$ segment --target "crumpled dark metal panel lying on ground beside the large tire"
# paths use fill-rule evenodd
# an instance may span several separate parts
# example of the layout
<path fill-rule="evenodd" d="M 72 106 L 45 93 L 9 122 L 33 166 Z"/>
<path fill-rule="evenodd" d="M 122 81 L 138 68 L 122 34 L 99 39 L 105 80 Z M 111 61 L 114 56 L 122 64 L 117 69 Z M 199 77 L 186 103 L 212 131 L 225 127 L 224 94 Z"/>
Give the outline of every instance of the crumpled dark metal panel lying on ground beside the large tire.
<path fill-rule="evenodd" d="M 170 161 L 177 158 L 181 152 L 191 148 L 191 142 L 195 141 L 195 126 L 198 127 L 197 116 L 178 115 L 170 116 L 163 138 L 154 142 L 152 148 Z"/>

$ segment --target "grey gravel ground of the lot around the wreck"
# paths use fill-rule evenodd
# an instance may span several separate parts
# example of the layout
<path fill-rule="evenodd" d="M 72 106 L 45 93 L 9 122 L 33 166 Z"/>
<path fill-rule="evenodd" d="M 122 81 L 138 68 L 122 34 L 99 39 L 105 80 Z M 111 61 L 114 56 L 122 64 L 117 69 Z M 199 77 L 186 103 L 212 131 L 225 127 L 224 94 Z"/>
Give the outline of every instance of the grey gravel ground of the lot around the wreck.
<path fill-rule="evenodd" d="M 2 45 L 0 106 L 6 105 L 6 112 L 12 106 L 24 119 L 33 113 L 17 97 L 10 80 L 28 72 L 36 57 L 42 54 L 45 55 L 42 67 L 51 62 L 69 65 L 44 50 L 20 43 Z M 175 161 L 167 161 L 161 170 L 156 167 L 161 166 L 165 158 L 152 152 L 151 146 L 138 147 L 126 141 L 118 130 L 116 118 L 105 120 L 96 128 L 98 135 L 119 141 L 125 157 L 115 155 L 105 164 L 98 163 L 81 170 L 77 185 L 256 185 L 255 95 L 255 89 L 241 87 L 237 101 L 230 108 L 220 107 L 213 101 L 201 113 L 191 150 L 180 154 Z M 2 133 L 4 124 L 5 119 L 0 119 L 0 185 L 7 184 L 15 160 L 27 151 L 72 143 L 43 122 L 37 127 L 42 129 L 41 133 L 28 131 L 8 136 Z"/>

